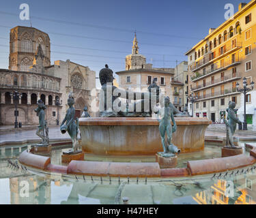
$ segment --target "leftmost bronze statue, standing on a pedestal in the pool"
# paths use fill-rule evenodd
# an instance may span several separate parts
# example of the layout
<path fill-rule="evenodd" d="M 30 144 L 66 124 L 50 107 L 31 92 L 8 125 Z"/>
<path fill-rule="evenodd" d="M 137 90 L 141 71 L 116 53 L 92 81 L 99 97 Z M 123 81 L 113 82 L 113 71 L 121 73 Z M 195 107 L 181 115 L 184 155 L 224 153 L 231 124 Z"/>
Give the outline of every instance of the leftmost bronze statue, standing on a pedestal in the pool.
<path fill-rule="evenodd" d="M 38 108 L 35 109 L 36 115 L 38 116 L 38 119 L 39 119 L 39 125 L 36 131 L 36 134 L 40 138 L 42 138 L 42 142 L 37 144 L 37 146 L 48 146 L 49 144 L 48 125 L 47 125 L 47 121 L 45 120 L 45 113 L 44 113 L 45 109 L 46 109 L 46 106 L 44 105 L 44 102 L 40 99 L 38 101 Z"/>

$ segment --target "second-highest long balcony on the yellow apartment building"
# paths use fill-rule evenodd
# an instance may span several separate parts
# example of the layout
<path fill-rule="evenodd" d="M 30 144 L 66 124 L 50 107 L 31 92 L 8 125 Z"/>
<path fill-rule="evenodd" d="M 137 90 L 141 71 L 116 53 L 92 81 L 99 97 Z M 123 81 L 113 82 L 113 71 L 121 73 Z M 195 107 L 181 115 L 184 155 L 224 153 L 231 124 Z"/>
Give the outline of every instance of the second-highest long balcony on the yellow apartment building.
<path fill-rule="evenodd" d="M 217 65 L 216 63 L 214 63 L 212 64 L 211 69 L 206 70 L 204 74 L 199 74 L 199 72 L 195 72 L 195 76 L 192 76 L 191 80 L 192 82 L 196 82 L 238 64 L 240 64 L 240 60 L 238 57 L 235 57 L 234 59 L 231 59 L 229 61 L 223 61 L 221 65 Z"/>

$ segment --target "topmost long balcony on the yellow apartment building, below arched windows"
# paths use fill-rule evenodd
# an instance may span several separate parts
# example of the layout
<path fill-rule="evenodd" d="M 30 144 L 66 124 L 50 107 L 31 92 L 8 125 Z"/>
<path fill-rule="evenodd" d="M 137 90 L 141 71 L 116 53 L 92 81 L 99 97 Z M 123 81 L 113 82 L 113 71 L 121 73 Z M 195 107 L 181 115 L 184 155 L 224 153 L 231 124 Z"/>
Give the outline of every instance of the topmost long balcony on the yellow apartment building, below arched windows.
<path fill-rule="evenodd" d="M 224 46 L 224 44 L 223 44 L 223 46 Z M 218 48 L 222 48 L 222 47 L 218 47 Z M 204 55 L 204 57 L 202 59 L 200 59 L 199 61 L 193 62 L 191 71 L 195 72 L 195 71 L 201 69 L 202 67 L 205 67 L 206 65 L 216 61 L 217 59 L 220 59 L 221 57 L 224 57 L 225 55 L 228 55 L 230 52 L 233 52 L 239 48 L 242 48 L 241 42 L 237 42 L 235 45 L 231 45 L 226 48 L 223 48 L 223 51 L 218 56 L 217 55 L 214 56 L 213 55 L 214 50 L 210 50 L 208 52 L 208 54 Z M 215 49 L 215 51 L 217 52 L 218 50 Z"/>

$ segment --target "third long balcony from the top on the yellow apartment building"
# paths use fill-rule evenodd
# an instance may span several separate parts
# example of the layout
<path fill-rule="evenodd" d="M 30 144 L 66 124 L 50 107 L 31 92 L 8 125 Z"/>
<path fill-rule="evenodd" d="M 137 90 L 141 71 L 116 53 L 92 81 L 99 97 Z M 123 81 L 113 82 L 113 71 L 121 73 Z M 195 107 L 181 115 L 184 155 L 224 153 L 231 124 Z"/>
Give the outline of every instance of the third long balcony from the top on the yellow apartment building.
<path fill-rule="evenodd" d="M 238 80 L 240 78 L 242 78 L 242 76 L 240 76 L 240 73 L 227 74 L 220 78 L 216 78 L 216 79 L 214 78 L 213 81 L 205 82 L 205 84 L 200 84 L 197 87 L 193 87 L 191 91 L 200 91 L 202 89 L 208 89 L 210 87 L 214 87 L 216 85 L 223 84 L 225 82 L 231 82 L 233 80 Z"/>

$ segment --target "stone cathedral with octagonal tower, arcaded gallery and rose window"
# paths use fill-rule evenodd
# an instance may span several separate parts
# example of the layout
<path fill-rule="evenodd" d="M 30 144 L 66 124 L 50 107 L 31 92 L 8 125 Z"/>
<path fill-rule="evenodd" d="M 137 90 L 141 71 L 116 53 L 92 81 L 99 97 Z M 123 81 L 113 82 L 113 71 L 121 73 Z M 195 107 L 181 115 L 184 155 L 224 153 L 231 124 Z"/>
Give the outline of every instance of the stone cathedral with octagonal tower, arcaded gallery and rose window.
<path fill-rule="evenodd" d="M 13 99 L 14 91 L 22 94 L 20 99 Z M 18 122 L 37 124 L 34 109 L 39 99 L 46 105 L 48 124 L 60 124 L 70 91 L 74 93 L 76 116 L 81 116 L 85 106 L 91 116 L 96 116 L 91 108 L 96 98 L 96 72 L 70 60 L 51 65 L 47 33 L 33 27 L 11 29 L 9 69 L 0 69 L 0 124 L 14 124 L 15 106 Z"/>

